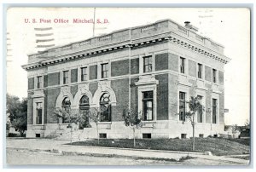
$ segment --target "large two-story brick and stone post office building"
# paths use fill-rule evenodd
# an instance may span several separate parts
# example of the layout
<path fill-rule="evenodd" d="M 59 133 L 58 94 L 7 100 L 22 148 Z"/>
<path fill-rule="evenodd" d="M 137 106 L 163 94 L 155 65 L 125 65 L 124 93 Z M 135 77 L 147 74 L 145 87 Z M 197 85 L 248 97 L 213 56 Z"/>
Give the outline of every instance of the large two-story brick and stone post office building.
<path fill-rule="evenodd" d="M 185 100 L 198 95 L 195 136 L 224 132 L 224 47 L 201 37 L 195 26 L 160 20 L 28 55 L 27 137 L 61 135 L 67 129 L 51 110 L 102 107 L 99 133 L 131 138 L 122 118 L 127 107 L 143 112 L 136 137 L 189 137 Z M 95 124 L 84 138 L 96 138 Z"/>

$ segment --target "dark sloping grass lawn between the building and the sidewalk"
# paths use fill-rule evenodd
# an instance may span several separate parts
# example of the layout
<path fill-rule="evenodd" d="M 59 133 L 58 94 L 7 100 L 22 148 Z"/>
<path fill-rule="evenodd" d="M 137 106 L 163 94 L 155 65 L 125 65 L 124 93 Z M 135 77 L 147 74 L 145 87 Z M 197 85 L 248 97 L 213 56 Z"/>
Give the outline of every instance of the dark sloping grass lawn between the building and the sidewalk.
<path fill-rule="evenodd" d="M 169 151 L 191 151 L 192 139 L 137 139 L 137 149 L 156 149 Z M 195 152 L 212 152 L 213 155 L 236 155 L 250 152 L 250 140 L 224 138 L 195 138 Z M 73 142 L 75 146 L 108 146 L 133 148 L 133 140 L 101 139 Z"/>

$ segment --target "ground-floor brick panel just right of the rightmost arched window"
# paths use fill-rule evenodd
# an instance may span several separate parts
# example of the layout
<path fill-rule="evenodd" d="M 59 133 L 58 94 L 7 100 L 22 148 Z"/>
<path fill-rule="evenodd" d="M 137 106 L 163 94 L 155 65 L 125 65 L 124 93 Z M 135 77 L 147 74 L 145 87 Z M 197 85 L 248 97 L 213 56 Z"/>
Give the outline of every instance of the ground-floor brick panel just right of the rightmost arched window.
<path fill-rule="evenodd" d="M 112 121 L 123 121 L 123 111 L 129 102 L 129 79 L 111 81 L 111 88 L 116 96 L 116 106 L 112 106 Z"/>

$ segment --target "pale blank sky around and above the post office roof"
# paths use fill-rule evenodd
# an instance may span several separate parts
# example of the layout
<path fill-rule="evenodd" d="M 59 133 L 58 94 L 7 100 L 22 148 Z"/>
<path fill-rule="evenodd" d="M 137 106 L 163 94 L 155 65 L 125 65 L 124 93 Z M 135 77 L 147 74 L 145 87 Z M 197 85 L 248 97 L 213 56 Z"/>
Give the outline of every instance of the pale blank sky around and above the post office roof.
<path fill-rule="evenodd" d="M 34 27 L 51 26 L 55 45 L 72 43 L 93 35 L 91 23 L 73 24 L 73 19 L 93 19 L 92 8 L 10 8 L 7 13 L 7 92 L 20 98 L 27 95 L 27 73 L 21 65 L 27 63 L 27 54 L 35 53 Z M 31 23 L 25 23 L 25 19 Z M 32 23 L 51 20 L 51 23 Z M 54 23 L 54 20 L 70 23 Z M 226 124 L 244 124 L 250 116 L 250 11 L 248 9 L 175 9 L 175 8 L 96 8 L 96 20 L 108 20 L 96 24 L 95 35 L 119 29 L 171 19 L 183 25 L 190 21 L 199 28 L 198 33 L 224 45 L 224 54 L 231 60 L 224 66 Z M 14 79 L 15 78 L 15 79 Z"/>

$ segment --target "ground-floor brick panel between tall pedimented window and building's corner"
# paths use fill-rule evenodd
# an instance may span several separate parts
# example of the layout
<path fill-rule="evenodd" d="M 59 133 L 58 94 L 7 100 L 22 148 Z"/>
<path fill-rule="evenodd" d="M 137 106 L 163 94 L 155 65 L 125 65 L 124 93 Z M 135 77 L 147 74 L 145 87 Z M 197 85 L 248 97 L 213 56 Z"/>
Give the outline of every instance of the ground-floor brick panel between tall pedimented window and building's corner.
<path fill-rule="evenodd" d="M 168 74 L 156 75 L 157 85 L 157 120 L 168 119 Z"/>

